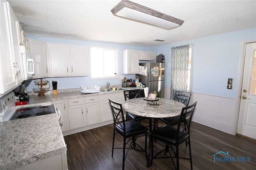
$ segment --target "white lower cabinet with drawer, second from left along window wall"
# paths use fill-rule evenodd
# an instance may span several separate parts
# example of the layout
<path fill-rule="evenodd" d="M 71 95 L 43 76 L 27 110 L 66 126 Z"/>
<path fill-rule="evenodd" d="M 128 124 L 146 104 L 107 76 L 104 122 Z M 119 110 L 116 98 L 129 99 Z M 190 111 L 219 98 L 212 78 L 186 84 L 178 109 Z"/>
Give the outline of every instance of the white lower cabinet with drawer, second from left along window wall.
<path fill-rule="evenodd" d="M 68 99 L 68 117 L 70 130 L 82 128 L 84 123 L 84 97 Z"/>

